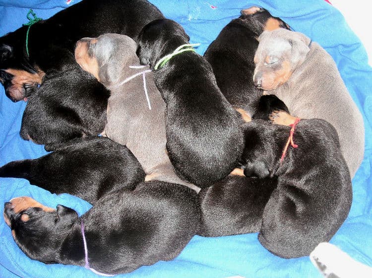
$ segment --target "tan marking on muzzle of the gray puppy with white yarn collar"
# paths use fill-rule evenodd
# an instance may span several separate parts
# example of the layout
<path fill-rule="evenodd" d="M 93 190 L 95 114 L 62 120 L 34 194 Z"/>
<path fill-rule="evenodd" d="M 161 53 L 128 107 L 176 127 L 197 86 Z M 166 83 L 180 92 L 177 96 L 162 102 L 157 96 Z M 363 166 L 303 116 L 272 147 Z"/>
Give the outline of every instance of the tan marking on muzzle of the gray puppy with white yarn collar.
<path fill-rule="evenodd" d="M 92 39 L 90 41 L 91 44 L 94 44 L 96 42 L 97 42 L 97 39 Z M 79 66 L 83 70 L 92 73 L 94 77 L 96 77 L 97 80 L 100 81 L 98 62 L 95 57 L 91 57 L 88 54 L 88 42 L 87 41 L 78 41 L 76 43 L 75 60 L 76 60 L 76 63 L 79 64 Z"/>

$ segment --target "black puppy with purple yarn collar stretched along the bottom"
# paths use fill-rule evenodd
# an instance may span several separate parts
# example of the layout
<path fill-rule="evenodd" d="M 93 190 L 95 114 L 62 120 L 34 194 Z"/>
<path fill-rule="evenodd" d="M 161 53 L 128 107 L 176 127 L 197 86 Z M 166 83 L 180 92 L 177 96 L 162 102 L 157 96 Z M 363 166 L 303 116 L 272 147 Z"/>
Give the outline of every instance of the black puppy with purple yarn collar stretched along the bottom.
<path fill-rule="evenodd" d="M 31 259 L 85 265 L 101 274 L 128 273 L 174 259 L 200 222 L 196 193 L 160 181 L 111 192 L 81 217 L 73 209 L 47 208 L 29 197 L 6 202 L 3 215 Z"/>

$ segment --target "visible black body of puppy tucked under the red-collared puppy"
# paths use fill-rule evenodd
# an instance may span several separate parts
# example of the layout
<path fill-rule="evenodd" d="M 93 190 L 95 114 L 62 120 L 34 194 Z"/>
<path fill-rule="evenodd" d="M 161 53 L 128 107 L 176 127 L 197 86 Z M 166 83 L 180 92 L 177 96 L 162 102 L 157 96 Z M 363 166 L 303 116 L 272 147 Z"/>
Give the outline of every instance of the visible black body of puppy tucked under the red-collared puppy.
<path fill-rule="evenodd" d="M 229 175 L 199 192 L 202 236 L 256 233 L 275 178 L 258 179 Z"/>

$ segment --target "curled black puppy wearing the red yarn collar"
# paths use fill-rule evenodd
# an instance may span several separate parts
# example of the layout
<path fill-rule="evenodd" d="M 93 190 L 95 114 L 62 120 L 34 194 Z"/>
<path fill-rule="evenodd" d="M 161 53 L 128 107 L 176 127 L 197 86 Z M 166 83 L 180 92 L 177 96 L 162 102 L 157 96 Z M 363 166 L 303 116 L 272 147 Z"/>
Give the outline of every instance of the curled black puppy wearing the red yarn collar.
<path fill-rule="evenodd" d="M 298 147 L 285 151 L 290 129 L 253 120 L 245 125 L 243 152 L 247 176 L 278 179 L 258 239 L 284 258 L 309 256 L 319 242 L 329 241 L 352 202 L 350 174 L 335 129 L 321 119 L 303 119 L 294 130 Z"/>

